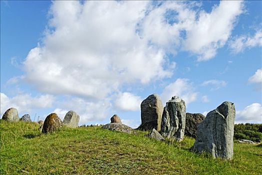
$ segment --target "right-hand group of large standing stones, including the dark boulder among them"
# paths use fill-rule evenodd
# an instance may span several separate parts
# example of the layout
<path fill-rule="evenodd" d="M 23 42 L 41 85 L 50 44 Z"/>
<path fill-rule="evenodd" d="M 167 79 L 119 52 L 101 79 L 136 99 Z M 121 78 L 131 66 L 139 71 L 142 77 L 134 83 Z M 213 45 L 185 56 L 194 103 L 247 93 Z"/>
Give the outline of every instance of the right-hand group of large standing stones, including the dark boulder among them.
<path fill-rule="evenodd" d="M 235 107 L 224 101 L 207 113 L 186 113 L 185 102 L 178 96 L 171 97 L 162 106 L 160 97 L 151 94 L 141 102 L 141 125 L 138 129 L 152 130 L 149 134 L 158 140 L 181 141 L 184 134 L 196 138 L 193 150 L 207 152 L 213 157 L 231 159 L 233 156 L 233 133 Z"/>

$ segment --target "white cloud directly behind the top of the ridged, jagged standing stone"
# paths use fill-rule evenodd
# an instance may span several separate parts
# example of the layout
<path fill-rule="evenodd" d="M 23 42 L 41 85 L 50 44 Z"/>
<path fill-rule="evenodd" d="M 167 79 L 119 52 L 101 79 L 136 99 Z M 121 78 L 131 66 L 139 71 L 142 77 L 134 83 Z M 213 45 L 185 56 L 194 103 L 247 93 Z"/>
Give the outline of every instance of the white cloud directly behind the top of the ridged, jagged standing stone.
<path fill-rule="evenodd" d="M 197 92 L 194 91 L 193 84 L 189 79 L 178 78 L 173 83 L 165 86 L 160 96 L 165 104 L 174 95 L 179 96 L 186 104 L 189 104 L 196 100 Z"/>

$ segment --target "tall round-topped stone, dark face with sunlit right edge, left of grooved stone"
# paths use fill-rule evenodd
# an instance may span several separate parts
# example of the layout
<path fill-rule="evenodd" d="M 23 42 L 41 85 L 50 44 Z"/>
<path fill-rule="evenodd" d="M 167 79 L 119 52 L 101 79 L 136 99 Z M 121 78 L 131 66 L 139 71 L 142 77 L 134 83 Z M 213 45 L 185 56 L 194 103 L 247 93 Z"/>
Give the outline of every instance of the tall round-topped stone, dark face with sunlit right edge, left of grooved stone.
<path fill-rule="evenodd" d="M 151 94 L 141 102 L 141 125 L 139 129 L 160 130 L 163 105 L 157 94 Z"/>

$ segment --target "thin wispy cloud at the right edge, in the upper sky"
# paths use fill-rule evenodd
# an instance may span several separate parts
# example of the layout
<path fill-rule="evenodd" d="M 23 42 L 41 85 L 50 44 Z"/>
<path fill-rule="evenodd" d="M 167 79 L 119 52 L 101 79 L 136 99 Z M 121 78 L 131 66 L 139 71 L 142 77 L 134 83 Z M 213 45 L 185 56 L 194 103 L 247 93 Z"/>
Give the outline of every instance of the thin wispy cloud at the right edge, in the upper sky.
<path fill-rule="evenodd" d="M 242 52 L 245 48 L 262 46 L 262 30 L 257 30 L 253 36 L 241 35 L 234 37 L 229 45 L 235 53 Z"/>

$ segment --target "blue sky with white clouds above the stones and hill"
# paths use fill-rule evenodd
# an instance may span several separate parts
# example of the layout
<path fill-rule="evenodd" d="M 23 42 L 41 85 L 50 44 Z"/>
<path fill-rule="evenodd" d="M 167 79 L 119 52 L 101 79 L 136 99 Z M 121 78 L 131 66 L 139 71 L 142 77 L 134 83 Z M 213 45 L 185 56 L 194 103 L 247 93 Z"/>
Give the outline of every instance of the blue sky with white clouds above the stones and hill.
<path fill-rule="evenodd" d="M 203 113 L 225 100 L 262 122 L 261 1 L 0 1 L 0 114 L 69 110 L 79 124 L 182 97 Z"/>

